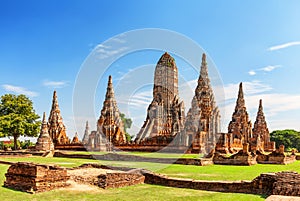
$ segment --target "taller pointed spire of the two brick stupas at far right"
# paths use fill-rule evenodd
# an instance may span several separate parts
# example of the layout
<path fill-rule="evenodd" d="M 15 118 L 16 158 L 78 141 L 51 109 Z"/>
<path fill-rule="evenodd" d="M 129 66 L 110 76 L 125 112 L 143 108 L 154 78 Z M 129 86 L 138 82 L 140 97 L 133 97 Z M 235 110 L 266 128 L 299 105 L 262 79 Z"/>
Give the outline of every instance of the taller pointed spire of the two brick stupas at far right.
<path fill-rule="evenodd" d="M 232 120 L 228 126 L 228 133 L 232 135 L 232 146 L 241 149 L 243 144 L 248 143 L 250 138 L 252 138 L 252 123 L 249 120 L 246 109 L 242 83 L 239 85 L 238 98 L 232 114 Z"/>

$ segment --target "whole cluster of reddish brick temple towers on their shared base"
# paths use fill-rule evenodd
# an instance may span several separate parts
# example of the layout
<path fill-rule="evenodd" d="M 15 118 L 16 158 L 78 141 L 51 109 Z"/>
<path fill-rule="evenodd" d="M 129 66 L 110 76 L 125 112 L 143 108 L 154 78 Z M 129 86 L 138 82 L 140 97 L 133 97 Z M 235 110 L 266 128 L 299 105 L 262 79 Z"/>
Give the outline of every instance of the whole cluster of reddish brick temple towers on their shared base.
<path fill-rule="evenodd" d="M 72 142 L 67 137 L 56 91 L 53 94 L 48 131 L 55 147 L 59 149 L 150 152 L 164 149 L 169 152 L 206 154 L 214 150 L 221 154 L 236 154 L 248 147 L 249 152 L 275 151 L 275 143 L 270 141 L 262 100 L 259 102 L 256 121 L 252 127 L 242 83 L 239 85 L 238 98 L 227 133 L 220 132 L 220 118 L 208 75 L 206 55 L 202 55 L 198 84 L 191 108 L 185 115 L 184 103 L 180 101 L 178 92 L 178 69 L 174 58 L 166 52 L 156 65 L 153 100 L 147 109 L 146 120 L 134 141 L 126 140 L 111 76 L 108 78 L 97 129 L 90 131 L 86 122 L 82 143 L 77 135 Z M 243 153 L 248 152 L 244 150 Z"/>

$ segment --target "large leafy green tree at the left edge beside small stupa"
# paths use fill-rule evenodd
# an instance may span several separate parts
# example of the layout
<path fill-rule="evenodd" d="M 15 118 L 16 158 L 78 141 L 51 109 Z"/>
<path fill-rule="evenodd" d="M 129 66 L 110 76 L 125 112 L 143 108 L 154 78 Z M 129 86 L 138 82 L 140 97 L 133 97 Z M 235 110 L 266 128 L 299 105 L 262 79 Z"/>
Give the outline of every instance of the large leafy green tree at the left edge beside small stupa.
<path fill-rule="evenodd" d="M 20 136 L 36 137 L 40 121 L 32 101 L 25 95 L 5 94 L 0 101 L 0 137 L 13 137 L 14 149 Z"/>

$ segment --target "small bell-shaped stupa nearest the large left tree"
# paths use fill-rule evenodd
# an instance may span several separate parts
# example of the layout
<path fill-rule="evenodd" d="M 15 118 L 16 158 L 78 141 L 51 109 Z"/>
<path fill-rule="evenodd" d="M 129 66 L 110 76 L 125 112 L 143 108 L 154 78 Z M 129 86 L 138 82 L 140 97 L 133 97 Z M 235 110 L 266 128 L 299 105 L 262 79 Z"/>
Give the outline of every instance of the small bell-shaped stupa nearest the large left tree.
<path fill-rule="evenodd" d="M 35 149 L 38 151 L 53 151 L 54 144 L 48 132 L 48 125 L 46 121 L 46 113 L 43 114 L 43 121 L 41 126 L 40 135 L 37 139 Z"/>

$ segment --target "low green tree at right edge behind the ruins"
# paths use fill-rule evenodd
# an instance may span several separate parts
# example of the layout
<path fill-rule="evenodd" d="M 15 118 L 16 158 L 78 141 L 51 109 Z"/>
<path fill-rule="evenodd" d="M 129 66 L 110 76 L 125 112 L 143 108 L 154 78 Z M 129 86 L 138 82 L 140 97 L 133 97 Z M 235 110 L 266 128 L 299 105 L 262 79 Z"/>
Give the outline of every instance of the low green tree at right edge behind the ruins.
<path fill-rule="evenodd" d="M 286 129 L 286 130 L 276 130 L 270 133 L 271 141 L 276 142 L 276 146 L 283 144 L 286 150 L 291 150 L 296 148 L 300 150 L 300 132 Z"/>

